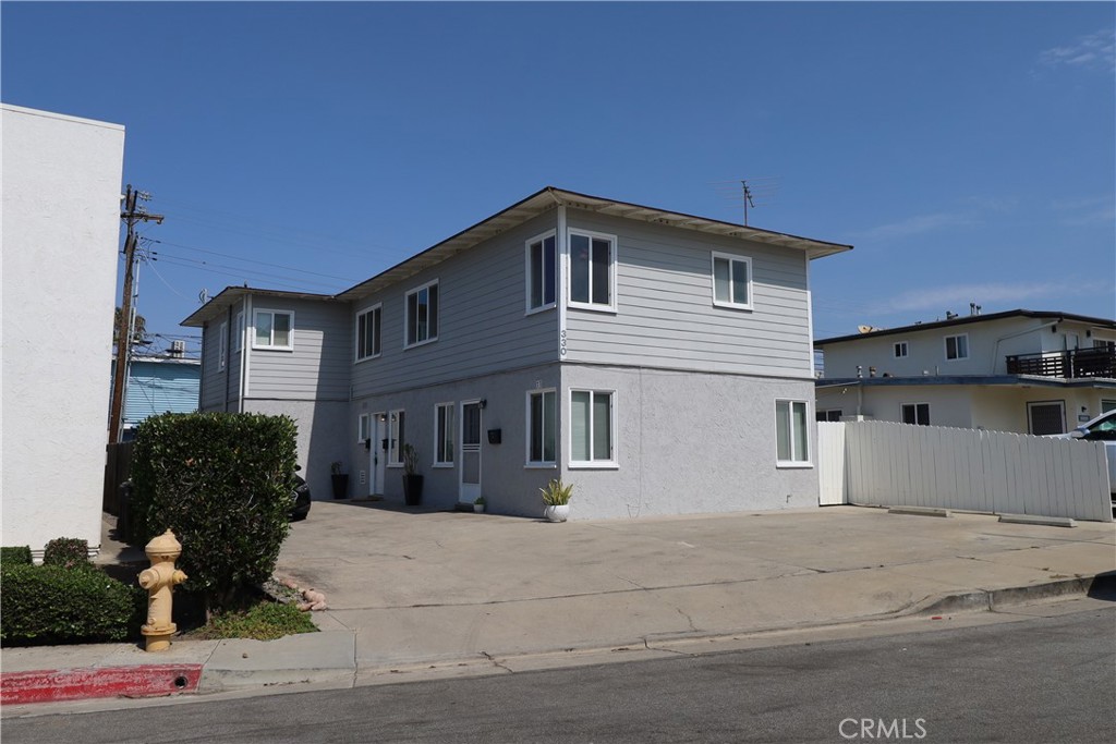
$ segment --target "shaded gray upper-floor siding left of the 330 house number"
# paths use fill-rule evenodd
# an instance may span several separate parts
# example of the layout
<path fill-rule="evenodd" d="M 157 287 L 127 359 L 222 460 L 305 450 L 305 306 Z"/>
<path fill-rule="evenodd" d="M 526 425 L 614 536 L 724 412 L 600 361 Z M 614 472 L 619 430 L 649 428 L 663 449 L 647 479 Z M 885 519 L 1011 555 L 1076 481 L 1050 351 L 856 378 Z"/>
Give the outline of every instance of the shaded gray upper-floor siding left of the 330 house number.
<path fill-rule="evenodd" d="M 382 303 L 381 356 L 353 364 L 354 397 L 434 385 L 558 360 L 558 311 L 525 315 L 525 242 L 555 226 L 555 212 L 354 303 Z M 404 349 L 406 293 L 439 282 L 437 340 Z"/>

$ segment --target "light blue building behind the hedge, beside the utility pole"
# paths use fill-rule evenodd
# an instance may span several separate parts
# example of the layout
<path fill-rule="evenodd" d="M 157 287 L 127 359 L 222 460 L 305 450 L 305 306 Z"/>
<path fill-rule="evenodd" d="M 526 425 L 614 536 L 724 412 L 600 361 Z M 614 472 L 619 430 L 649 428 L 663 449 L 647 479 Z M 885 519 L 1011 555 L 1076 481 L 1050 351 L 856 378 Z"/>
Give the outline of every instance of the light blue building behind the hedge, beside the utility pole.
<path fill-rule="evenodd" d="M 116 360 L 113 360 L 115 370 Z M 140 356 L 128 364 L 124 388 L 124 441 L 131 439 L 140 422 L 158 414 L 198 410 L 202 363 L 184 356 Z M 114 377 L 115 379 L 115 377 Z M 109 393 L 112 392 L 109 385 Z"/>

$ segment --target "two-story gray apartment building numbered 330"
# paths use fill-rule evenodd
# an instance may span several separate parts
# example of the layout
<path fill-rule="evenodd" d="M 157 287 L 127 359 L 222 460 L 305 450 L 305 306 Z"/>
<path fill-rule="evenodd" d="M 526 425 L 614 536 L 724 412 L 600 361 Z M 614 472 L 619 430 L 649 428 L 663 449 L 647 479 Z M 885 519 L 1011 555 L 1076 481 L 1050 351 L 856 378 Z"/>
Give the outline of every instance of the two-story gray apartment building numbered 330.
<path fill-rule="evenodd" d="M 809 262 L 848 245 L 543 189 L 337 294 L 228 288 L 203 410 L 286 413 L 318 497 L 575 518 L 818 503 Z"/>

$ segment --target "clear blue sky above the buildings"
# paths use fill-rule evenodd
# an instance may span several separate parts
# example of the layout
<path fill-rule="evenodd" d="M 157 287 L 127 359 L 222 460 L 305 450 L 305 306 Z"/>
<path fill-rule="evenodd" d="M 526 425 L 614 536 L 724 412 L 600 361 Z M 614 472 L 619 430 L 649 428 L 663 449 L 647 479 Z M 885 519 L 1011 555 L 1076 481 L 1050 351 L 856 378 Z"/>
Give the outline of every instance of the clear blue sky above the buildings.
<path fill-rule="evenodd" d="M 1116 4 L 0 6 L 4 103 L 127 127 L 148 330 L 331 292 L 545 185 L 852 243 L 815 335 L 1116 316 Z M 6 249 L 7 250 L 7 249 Z M 191 348 L 196 348 L 191 344 Z"/>

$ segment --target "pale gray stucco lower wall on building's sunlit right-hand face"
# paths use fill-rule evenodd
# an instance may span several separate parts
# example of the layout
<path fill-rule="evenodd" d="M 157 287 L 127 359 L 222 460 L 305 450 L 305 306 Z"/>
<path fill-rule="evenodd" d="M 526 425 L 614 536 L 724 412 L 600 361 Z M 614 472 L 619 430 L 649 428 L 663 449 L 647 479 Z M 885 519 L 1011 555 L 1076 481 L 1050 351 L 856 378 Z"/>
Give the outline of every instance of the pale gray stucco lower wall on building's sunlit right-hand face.
<path fill-rule="evenodd" d="M 818 505 L 810 380 L 567 365 L 562 388 L 564 422 L 569 389 L 616 392 L 617 467 L 564 465 L 570 519 Z M 777 398 L 808 404 L 806 466 L 776 464 Z"/>

